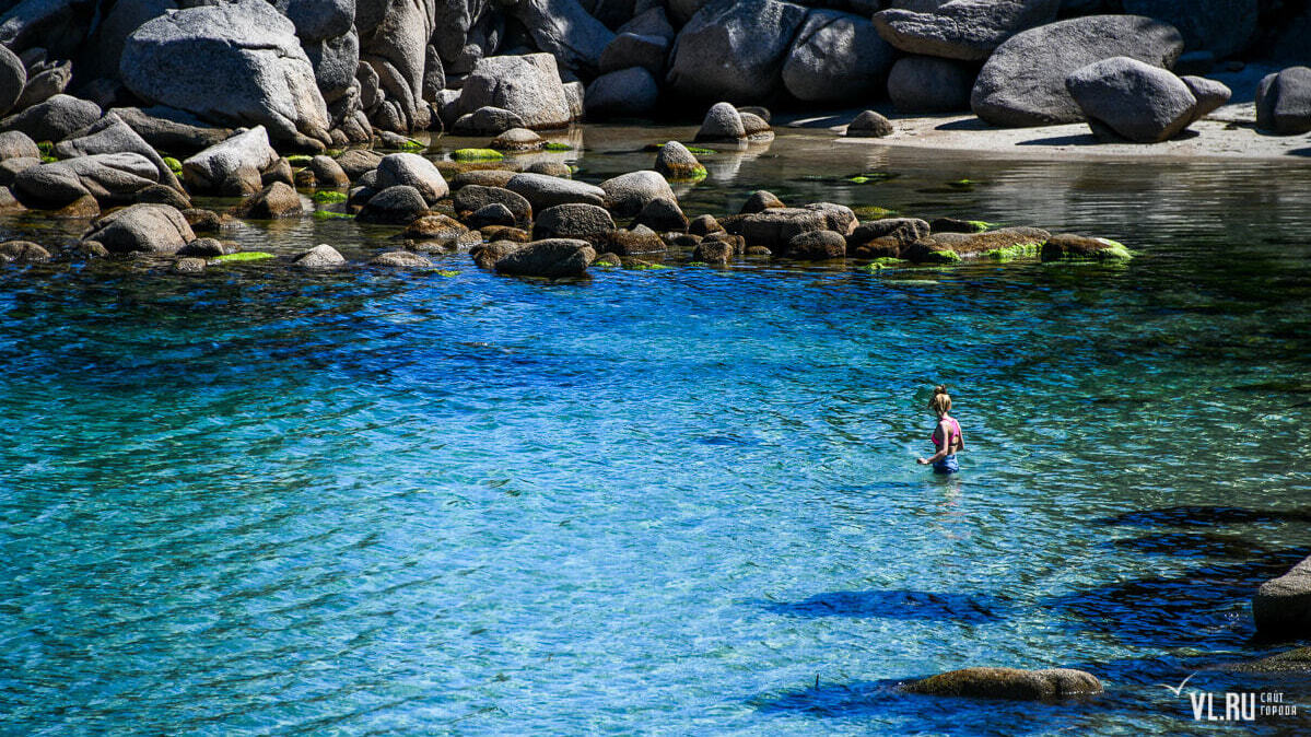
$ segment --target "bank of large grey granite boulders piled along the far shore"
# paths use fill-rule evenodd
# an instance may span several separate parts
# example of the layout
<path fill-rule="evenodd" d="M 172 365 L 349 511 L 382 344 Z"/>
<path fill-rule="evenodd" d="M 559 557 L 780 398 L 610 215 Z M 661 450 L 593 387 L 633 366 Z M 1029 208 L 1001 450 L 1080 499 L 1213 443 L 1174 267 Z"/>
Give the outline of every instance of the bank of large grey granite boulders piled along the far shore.
<path fill-rule="evenodd" d="M 307 153 L 383 131 L 497 135 L 583 114 L 649 117 L 686 109 L 665 104 L 686 100 L 853 106 L 888 96 L 903 111 L 973 109 L 994 125 L 1047 125 L 1082 121 L 1089 106 L 1122 106 L 1105 89 L 1125 80 L 1160 96 L 1137 117 L 1168 131 L 1209 102 L 1192 90 L 1197 104 L 1188 109 L 1179 84 L 1124 60 L 1096 68 L 1096 79 L 1088 67 L 1114 58 L 1205 72 L 1256 47 L 1304 59 L 1311 33 L 1311 4 L 1269 0 L 21 0 L 0 8 L 5 130 L 58 140 L 113 110 L 163 148 L 262 126 L 274 144 Z M 1097 100 L 1078 101 L 1071 79 Z M 1088 89 L 1096 84 L 1103 92 Z M 1306 84 L 1295 71 L 1262 83 L 1262 126 L 1301 130 Z"/>

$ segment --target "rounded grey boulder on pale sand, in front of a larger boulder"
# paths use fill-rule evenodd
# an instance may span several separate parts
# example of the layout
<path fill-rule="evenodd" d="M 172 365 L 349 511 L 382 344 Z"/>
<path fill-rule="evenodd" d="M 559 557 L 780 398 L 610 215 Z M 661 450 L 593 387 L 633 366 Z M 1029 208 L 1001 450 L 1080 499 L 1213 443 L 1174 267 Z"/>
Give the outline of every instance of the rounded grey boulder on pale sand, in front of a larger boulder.
<path fill-rule="evenodd" d="M 1134 143 L 1173 138 L 1193 122 L 1197 106 L 1184 80 L 1129 56 L 1075 70 L 1066 77 L 1066 89 L 1089 123 L 1101 123 Z"/>

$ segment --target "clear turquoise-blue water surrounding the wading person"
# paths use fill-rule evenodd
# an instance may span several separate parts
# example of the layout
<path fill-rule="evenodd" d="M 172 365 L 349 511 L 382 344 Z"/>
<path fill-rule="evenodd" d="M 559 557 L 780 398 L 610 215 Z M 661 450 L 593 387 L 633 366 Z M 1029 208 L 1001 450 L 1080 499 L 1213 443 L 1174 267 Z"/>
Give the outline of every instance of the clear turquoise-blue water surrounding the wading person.
<path fill-rule="evenodd" d="M 591 181 L 673 136 L 589 135 Z M 823 178 L 864 169 L 899 176 Z M 1253 640 L 1248 597 L 1311 543 L 1308 185 L 792 132 L 714 163 L 688 209 L 767 186 L 1139 256 L 0 270 L 0 732 L 1202 730 L 1158 683 L 1287 648 Z M 233 237 L 361 258 L 393 232 Z M 936 382 L 970 445 L 950 480 L 915 466 Z M 1108 692 L 893 691 L 969 665 Z"/>

